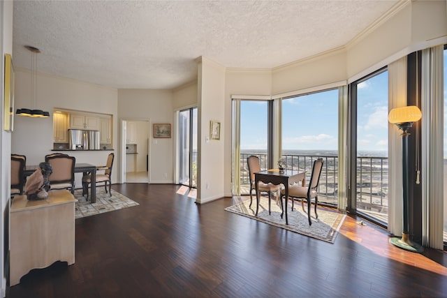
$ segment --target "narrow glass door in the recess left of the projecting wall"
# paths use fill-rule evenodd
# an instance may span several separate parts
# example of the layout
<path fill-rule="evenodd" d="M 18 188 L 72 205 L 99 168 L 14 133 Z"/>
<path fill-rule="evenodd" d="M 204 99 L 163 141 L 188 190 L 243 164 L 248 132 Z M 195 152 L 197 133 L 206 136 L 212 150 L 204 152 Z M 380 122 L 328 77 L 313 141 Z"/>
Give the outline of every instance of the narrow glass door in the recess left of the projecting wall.
<path fill-rule="evenodd" d="M 179 112 L 179 184 L 197 186 L 197 107 Z"/>

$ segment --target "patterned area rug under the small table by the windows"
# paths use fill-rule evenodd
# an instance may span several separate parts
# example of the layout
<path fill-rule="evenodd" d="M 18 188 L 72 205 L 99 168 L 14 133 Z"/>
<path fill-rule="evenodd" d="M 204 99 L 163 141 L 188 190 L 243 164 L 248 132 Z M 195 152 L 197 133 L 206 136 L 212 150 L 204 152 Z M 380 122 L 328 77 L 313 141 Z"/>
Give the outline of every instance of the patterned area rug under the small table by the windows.
<path fill-rule="evenodd" d="M 312 225 L 309 226 L 307 219 L 307 213 L 302 211 L 301 202 L 295 201 L 295 207 L 291 211 L 292 203 L 288 202 L 288 225 L 286 225 L 286 216 L 281 218 L 281 203 L 272 200 L 271 215 L 268 214 L 268 198 L 261 196 L 259 202 L 258 216 L 256 217 L 256 198 L 253 198 L 253 204 L 249 207 L 250 200 L 240 202 L 233 206 L 227 207 L 226 211 L 233 212 L 242 216 L 268 223 L 269 225 L 275 225 L 279 228 L 297 232 L 299 234 L 306 235 L 315 239 L 323 240 L 329 243 L 334 243 L 335 237 L 337 237 L 338 231 L 342 226 L 346 215 L 339 214 L 334 211 L 328 211 L 318 208 L 318 218 L 315 218 L 314 206 L 312 206 L 311 218 Z M 305 204 L 307 210 L 307 204 Z"/>

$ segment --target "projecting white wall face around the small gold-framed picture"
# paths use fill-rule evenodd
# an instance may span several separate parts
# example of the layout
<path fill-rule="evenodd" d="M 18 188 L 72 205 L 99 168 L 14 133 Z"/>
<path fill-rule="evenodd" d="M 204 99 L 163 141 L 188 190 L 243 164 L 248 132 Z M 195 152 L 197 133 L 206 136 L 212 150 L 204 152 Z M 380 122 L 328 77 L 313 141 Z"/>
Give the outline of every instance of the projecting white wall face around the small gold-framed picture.
<path fill-rule="evenodd" d="M 225 68 L 201 57 L 198 61 L 198 195 L 196 202 L 203 204 L 224 195 L 226 143 L 225 131 Z M 210 121 L 221 123 L 221 139 L 209 140 Z"/>

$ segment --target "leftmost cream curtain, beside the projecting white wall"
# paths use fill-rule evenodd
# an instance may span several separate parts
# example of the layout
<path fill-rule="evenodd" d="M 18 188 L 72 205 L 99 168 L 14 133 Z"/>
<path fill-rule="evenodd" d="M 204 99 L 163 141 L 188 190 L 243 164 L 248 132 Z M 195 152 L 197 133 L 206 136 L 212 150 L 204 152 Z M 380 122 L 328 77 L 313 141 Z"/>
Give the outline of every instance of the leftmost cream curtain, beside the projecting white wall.
<path fill-rule="evenodd" d="M 240 195 L 240 99 L 233 99 L 231 132 L 231 193 Z"/>

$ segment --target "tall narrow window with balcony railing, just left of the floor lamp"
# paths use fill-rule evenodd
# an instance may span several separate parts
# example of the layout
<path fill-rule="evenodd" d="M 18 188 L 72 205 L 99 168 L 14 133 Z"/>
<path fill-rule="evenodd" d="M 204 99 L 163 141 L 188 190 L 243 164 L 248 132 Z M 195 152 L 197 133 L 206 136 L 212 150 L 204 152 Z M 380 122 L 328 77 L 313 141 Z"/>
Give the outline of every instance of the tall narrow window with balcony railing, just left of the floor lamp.
<path fill-rule="evenodd" d="M 356 209 L 388 222 L 388 70 L 353 83 L 356 90 Z"/>

